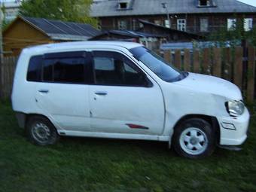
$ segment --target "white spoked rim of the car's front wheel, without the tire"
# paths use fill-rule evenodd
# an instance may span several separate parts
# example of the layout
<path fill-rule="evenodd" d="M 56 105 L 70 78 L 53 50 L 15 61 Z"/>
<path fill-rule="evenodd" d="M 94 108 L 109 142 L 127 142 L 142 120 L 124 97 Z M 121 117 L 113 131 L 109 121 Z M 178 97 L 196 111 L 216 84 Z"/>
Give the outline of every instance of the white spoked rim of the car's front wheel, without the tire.
<path fill-rule="evenodd" d="M 208 139 L 202 130 L 190 127 L 181 133 L 179 143 L 187 154 L 198 155 L 206 151 Z"/>

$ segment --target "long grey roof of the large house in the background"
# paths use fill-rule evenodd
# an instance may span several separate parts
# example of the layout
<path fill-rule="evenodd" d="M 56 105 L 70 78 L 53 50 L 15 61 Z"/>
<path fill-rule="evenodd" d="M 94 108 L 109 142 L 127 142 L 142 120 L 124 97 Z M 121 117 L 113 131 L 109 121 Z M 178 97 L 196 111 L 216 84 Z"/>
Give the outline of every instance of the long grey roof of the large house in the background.
<path fill-rule="evenodd" d="M 130 0 L 126 0 L 130 1 Z M 166 2 L 169 14 L 256 13 L 256 8 L 236 0 L 212 0 L 214 6 L 198 7 L 198 0 L 133 0 L 128 9 L 118 9 L 118 0 L 94 2 L 92 17 L 166 14 L 162 3 Z"/>

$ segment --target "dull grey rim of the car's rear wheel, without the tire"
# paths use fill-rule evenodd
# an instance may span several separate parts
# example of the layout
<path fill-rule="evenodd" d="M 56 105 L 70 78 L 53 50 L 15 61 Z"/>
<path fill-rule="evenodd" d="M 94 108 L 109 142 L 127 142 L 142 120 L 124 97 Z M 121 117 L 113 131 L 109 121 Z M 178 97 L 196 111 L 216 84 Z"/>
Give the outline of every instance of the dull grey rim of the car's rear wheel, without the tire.
<path fill-rule="evenodd" d="M 50 139 L 50 129 L 44 123 L 35 123 L 32 126 L 32 136 L 38 142 L 47 142 Z"/>

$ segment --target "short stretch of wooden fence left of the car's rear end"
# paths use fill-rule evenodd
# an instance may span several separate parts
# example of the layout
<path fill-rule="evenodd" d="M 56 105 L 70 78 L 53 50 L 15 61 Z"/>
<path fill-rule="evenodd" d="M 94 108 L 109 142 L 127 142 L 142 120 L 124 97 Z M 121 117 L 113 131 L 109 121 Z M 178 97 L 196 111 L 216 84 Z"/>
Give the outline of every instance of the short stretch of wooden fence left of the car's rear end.
<path fill-rule="evenodd" d="M 14 72 L 16 68 L 17 57 L 5 57 L 1 65 L 1 96 L 2 98 L 10 98 L 12 85 L 14 81 Z"/>

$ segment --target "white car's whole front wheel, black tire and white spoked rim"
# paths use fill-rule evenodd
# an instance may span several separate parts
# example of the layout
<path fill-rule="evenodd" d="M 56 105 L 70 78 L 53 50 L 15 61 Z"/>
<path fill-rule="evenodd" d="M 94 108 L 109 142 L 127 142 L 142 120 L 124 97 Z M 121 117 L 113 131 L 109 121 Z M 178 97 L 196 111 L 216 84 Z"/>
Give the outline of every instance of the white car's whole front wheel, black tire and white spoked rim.
<path fill-rule="evenodd" d="M 200 159 L 215 150 L 215 130 L 206 120 L 192 118 L 175 127 L 172 145 L 182 157 Z"/>

